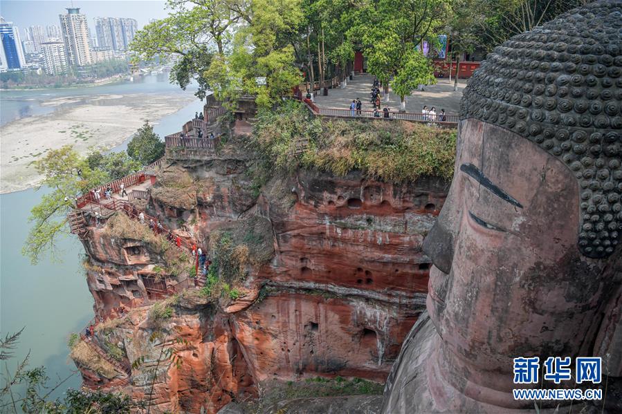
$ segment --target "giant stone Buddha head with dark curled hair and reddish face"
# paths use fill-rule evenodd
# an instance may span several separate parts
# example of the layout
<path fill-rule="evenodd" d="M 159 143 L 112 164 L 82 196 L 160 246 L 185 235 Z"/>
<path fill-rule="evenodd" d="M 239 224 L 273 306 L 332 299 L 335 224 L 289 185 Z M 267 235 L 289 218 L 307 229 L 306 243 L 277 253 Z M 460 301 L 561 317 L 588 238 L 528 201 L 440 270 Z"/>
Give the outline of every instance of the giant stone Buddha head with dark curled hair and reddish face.
<path fill-rule="evenodd" d="M 522 408 L 508 394 L 515 357 L 600 356 L 622 376 L 622 2 L 495 48 L 460 115 L 454 178 L 423 247 L 430 394 Z"/>

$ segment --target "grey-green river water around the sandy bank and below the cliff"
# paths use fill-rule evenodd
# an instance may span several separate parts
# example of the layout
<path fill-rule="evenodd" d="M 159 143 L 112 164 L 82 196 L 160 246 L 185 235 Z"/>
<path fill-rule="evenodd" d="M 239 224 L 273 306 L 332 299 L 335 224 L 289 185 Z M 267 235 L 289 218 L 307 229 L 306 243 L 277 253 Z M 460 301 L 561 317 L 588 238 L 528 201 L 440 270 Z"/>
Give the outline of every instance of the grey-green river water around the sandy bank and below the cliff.
<path fill-rule="evenodd" d="M 181 94 L 192 95 L 192 87 L 181 91 L 168 83 L 167 75 L 149 75 L 138 82 L 104 86 L 52 89 L 45 91 L 1 91 L 0 124 L 33 115 L 62 110 L 66 106 L 42 106 L 45 100 L 57 97 L 85 97 L 72 100 L 71 106 L 86 102 L 87 97 L 101 94 L 170 93 L 171 99 Z M 154 120 L 154 131 L 161 137 L 181 130 L 181 125 L 200 111 L 201 102 Z M 0 131 L 1 133 L 1 131 Z M 127 141 L 113 151 L 125 149 Z M 0 171 L 1 174 L 1 171 Z M 9 369 L 30 352 L 30 367 L 45 366 L 51 383 L 65 379 L 75 366 L 68 359 L 67 339 L 78 332 L 93 317 L 93 297 L 86 286 L 80 265 L 84 250 L 75 236 L 65 236 L 57 243 L 57 260 L 44 258 L 31 265 L 21 255 L 30 223 L 28 215 L 46 189 L 28 189 L 0 195 L 0 335 L 24 328 L 15 358 L 8 361 Z M 2 366 L 2 373 L 5 372 Z M 0 382 L 3 386 L 4 381 Z M 77 373 L 58 388 L 51 397 L 61 397 L 68 387 L 78 388 Z M 1 403 L 0 403 L 1 405 Z M 0 411 L 3 411 L 0 408 Z"/>

